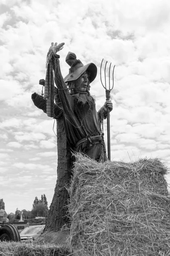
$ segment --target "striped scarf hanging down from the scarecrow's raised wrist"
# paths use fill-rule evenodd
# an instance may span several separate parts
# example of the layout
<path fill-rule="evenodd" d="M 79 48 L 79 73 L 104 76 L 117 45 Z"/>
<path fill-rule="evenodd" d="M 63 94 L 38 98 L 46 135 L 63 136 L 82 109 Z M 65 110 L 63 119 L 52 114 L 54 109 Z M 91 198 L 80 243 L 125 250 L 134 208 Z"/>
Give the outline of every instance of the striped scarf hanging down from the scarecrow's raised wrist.
<path fill-rule="evenodd" d="M 44 89 L 44 99 L 47 100 L 46 103 L 46 113 L 49 117 L 54 117 L 54 73 L 53 64 L 51 58 L 47 61 L 47 71 L 45 76 L 45 89 Z"/>

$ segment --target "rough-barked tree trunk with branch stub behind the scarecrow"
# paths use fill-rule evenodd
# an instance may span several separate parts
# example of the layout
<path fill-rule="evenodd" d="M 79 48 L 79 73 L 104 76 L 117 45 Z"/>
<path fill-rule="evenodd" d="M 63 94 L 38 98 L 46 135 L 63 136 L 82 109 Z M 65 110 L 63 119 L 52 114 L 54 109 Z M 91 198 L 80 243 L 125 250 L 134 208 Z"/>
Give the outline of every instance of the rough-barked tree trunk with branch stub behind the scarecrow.
<path fill-rule="evenodd" d="M 37 93 L 33 93 L 31 98 L 34 105 L 46 113 L 45 99 Z M 66 186 L 69 185 L 71 180 L 73 159 L 71 157 L 70 146 L 65 136 L 63 116 L 59 113 L 59 109 L 56 106 L 54 107 L 54 113 L 54 118 L 57 120 L 57 184 L 44 231 L 56 231 L 61 229 L 63 225 L 69 223 L 67 213 L 69 194 Z"/>

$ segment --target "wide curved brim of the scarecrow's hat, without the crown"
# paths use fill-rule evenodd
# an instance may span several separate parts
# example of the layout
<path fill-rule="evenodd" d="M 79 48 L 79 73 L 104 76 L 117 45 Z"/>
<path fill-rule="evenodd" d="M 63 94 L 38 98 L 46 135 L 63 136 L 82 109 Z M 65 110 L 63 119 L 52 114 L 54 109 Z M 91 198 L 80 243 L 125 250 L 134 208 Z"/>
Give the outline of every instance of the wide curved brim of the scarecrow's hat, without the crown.
<path fill-rule="evenodd" d="M 85 71 L 88 71 L 90 73 L 89 82 L 91 83 L 92 81 L 94 81 L 97 75 L 97 67 L 94 63 L 90 63 L 83 67 L 79 67 L 73 73 L 68 74 L 64 79 L 65 83 L 77 80 Z"/>

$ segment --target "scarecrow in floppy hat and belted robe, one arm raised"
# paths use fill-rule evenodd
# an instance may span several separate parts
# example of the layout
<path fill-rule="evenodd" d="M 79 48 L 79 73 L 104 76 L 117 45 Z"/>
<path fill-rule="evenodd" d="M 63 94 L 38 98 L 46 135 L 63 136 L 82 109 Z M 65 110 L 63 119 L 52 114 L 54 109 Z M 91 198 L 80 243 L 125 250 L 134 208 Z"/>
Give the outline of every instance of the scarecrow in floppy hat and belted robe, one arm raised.
<path fill-rule="evenodd" d="M 101 126 L 107 116 L 107 106 L 110 111 L 113 109 L 112 102 L 106 101 L 97 113 L 95 99 L 90 94 L 90 83 L 96 78 L 97 67 L 94 63 L 83 65 L 72 52 L 68 52 L 66 56 L 65 61 L 70 68 L 68 75 L 63 79 L 57 55 L 63 45 L 64 43 L 51 43 L 47 55 L 44 92 L 44 98 L 47 99 L 47 115 L 55 117 L 59 111 L 63 111 L 65 134 L 71 149 L 103 162 L 107 157 Z M 57 105 L 55 111 L 54 93 Z"/>

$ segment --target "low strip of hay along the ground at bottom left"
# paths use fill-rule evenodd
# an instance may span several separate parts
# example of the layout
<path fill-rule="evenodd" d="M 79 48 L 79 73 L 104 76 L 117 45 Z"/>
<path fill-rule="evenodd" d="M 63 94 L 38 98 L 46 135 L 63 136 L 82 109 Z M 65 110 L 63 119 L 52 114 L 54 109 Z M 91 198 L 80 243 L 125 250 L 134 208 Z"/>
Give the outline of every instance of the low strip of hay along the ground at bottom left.
<path fill-rule="evenodd" d="M 0 242 L 0 256 L 66 256 L 66 247 L 54 244 L 25 244 L 22 242 Z"/>

